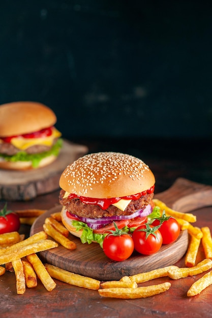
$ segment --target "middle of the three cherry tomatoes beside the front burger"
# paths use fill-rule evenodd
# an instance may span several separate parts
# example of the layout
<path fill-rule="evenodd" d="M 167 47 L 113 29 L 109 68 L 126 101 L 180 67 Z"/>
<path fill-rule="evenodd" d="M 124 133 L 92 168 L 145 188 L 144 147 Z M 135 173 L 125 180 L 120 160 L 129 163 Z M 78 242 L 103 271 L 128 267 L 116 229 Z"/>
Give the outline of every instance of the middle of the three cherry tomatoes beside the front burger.
<path fill-rule="evenodd" d="M 146 223 L 135 229 L 132 238 L 137 252 L 151 255 L 161 248 L 163 239 L 158 228 Z"/>

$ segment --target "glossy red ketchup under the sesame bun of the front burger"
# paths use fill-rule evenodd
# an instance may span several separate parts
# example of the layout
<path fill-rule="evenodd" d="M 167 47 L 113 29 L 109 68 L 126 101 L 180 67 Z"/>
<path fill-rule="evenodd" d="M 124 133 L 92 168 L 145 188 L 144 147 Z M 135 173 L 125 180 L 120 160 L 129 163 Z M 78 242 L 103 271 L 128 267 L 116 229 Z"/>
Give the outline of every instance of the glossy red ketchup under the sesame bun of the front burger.
<path fill-rule="evenodd" d="M 140 199 L 140 197 L 145 196 L 146 194 L 153 193 L 154 190 L 155 190 L 155 185 L 151 186 L 148 190 L 142 191 L 142 192 L 137 193 L 135 195 L 121 197 L 121 198 L 119 198 L 119 197 L 118 198 L 109 198 L 109 199 L 88 198 L 88 197 L 82 197 L 82 196 L 78 196 L 78 195 L 71 193 L 69 195 L 69 199 L 72 200 L 72 199 L 77 198 L 77 199 L 80 199 L 80 201 L 82 203 L 99 205 L 103 210 L 106 210 L 111 204 L 114 204 L 121 199 L 138 200 L 138 199 Z"/>

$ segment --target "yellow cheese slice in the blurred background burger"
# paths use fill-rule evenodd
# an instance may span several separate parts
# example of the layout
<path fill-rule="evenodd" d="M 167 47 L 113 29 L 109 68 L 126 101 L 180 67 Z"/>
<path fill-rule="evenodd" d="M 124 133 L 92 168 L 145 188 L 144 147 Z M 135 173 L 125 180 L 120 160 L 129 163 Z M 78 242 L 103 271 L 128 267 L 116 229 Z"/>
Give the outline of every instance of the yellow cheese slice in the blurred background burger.
<path fill-rule="evenodd" d="M 62 134 L 53 128 L 51 136 L 45 138 L 23 138 L 16 137 L 11 140 L 11 144 L 20 150 L 25 150 L 28 147 L 35 145 L 44 145 L 51 147 L 55 138 L 60 137 Z"/>

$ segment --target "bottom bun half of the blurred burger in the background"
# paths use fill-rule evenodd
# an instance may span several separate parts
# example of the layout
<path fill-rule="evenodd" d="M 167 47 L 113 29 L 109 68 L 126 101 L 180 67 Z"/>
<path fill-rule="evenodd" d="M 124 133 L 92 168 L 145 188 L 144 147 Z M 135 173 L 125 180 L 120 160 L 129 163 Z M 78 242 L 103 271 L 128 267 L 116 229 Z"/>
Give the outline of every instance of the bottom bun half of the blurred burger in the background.
<path fill-rule="evenodd" d="M 28 169 L 38 169 L 45 167 L 55 161 L 57 157 L 55 155 L 50 155 L 48 157 L 43 158 L 38 167 L 33 168 L 31 161 L 5 161 L 0 159 L 0 169 L 8 169 L 8 170 L 28 170 Z"/>

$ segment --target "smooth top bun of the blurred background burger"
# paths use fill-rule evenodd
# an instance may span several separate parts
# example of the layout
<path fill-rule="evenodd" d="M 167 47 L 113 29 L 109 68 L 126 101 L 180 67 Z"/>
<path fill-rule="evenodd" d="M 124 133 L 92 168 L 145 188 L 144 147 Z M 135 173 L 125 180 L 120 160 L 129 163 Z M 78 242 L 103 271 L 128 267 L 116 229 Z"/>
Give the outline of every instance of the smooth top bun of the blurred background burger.
<path fill-rule="evenodd" d="M 37 102 L 13 102 L 0 106 L 0 136 L 34 133 L 53 126 L 54 112 Z"/>

